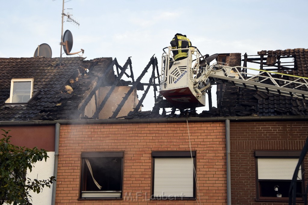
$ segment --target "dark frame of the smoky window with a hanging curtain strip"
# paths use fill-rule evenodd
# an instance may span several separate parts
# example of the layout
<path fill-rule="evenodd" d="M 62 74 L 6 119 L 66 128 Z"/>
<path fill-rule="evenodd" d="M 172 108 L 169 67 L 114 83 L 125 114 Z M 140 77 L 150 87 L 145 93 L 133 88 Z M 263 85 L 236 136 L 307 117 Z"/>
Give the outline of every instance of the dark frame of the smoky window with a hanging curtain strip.
<path fill-rule="evenodd" d="M 97 157 L 112 157 L 121 158 L 121 179 L 120 179 L 120 197 L 82 197 L 82 192 L 85 186 L 85 168 L 87 167 L 85 163 L 86 158 L 97 158 Z M 80 186 L 79 186 L 79 198 L 78 200 L 122 200 L 123 199 L 123 179 L 124 179 L 124 151 L 118 152 L 82 152 L 81 153 L 81 174 L 80 174 Z M 102 191 L 103 192 L 103 191 Z"/>

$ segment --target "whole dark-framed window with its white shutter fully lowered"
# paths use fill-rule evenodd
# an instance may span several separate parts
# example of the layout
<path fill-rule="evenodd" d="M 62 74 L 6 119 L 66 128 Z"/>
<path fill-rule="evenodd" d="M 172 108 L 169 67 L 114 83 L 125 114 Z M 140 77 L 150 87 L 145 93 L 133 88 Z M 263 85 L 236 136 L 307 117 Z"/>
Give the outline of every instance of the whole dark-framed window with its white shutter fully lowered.
<path fill-rule="evenodd" d="M 196 199 L 196 152 L 152 152 L 152 200 Z"/>

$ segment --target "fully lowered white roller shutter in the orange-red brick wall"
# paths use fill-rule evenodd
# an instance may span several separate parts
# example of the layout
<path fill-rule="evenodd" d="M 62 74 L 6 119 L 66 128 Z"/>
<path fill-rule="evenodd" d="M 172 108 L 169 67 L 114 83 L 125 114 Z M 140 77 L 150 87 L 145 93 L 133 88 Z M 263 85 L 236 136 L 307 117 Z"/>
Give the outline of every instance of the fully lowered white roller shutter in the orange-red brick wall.
<path fill-rule="evenodd" d="M 154 196 L 193 197 L 192 158 L 155 158 Z"/>

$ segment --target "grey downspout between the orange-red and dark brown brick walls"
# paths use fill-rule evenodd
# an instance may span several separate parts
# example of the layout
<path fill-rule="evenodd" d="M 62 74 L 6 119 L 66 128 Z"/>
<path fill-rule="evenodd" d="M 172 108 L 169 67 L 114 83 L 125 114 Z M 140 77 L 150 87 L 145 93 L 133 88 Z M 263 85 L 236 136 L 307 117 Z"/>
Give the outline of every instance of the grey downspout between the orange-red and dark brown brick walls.
<path fill-rule="evenodd" d="M 230 120 L 226 123 L 227 205 L 231 205 Z"/>

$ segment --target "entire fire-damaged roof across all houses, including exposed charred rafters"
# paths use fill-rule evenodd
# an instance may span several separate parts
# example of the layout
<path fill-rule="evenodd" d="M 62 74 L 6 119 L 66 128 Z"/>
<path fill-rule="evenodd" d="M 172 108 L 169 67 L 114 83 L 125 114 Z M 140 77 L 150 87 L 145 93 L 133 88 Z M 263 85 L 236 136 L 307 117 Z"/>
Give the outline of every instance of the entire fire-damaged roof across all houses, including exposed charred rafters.
<path fill-rule="evenodd" d="M 243 61 L 245 67 L 308 77 L 308 49 L 260 51 L 254 56 L 245 54 L 243 59 L 240 53 L 224 53 L 216 60 L 230 66 L 241 65 Z M 160 81 L 154 57 L 136 80 L 130 58 L 123 67 L 116 59 L 108 57 L 89 61 L 82 57 L 66 57 L 62 62 L 59 66 L 59 58 L 0 58 L 0 120 L 308 115 L 306 100 L 219 83 L 217 106 L 210 106 L 209 111 L 199 114 L 195 109 L 175 112 L 176 109 L 163 97 L 156 96 Z M 247 63 L 252 64 L 247 66 Z M 149 82 L 141 83 L 151 66 Z M 126 73 L 128 68 L 131 74 Z M 124 75 L 132 81 L 124 81 Z M 20 78 L 34 78 L 33 97 L 27 103 L 6 103 L 10 97 L 11 79 Z M 151 111 L 141 112 L 140 107 L 151 86 L 154 88 L 154 107 Z M 137 89 L 144 90 L 140 101 Z M 166 108 L 172 108 L 172 111 L 166 112 Z"/>

